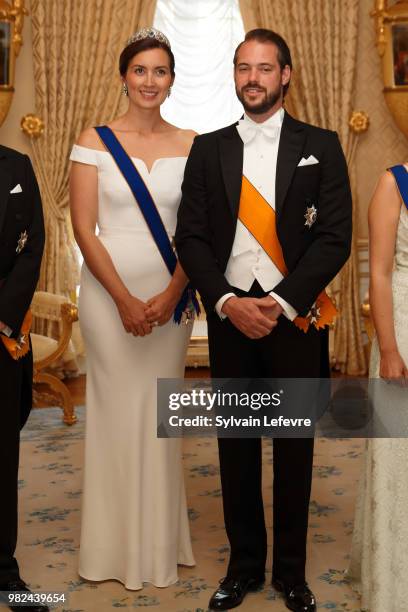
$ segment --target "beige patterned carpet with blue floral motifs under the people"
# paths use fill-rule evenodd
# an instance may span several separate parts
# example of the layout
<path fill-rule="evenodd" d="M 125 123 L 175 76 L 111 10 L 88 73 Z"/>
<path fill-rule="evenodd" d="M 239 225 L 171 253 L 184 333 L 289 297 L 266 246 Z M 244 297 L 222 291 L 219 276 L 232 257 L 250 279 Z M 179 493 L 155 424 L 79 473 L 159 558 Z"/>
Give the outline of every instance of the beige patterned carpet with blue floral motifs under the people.
<path fill-rule="evenodd" d="M 215 440 L 188 439 L 184 443 L 196 567 L 180 568 L 179 582 L 166 589 L 146 585 L 141 591 L 127 591 L 118 582 L 90 583 L 77 574 L 84 409 L 77 409 L 77 414 L 78 423 L 67 427 L 59 409 L 36 409 L 23 432 L 17 550 L 22 576 L 33 589 L 66 593 L 68 602 L 55 608 L 59 612 L 104 612 L 116 608 L 205 612 L 228 558 Z M 320 439 L 316 444 L 308 579 L 319 610 L 360 610 L 343 571 L 350 547 L 361 450 L 361 440 Z M 264 466 L 264 502 L 270 527 L 269 441 L 264 441 Z M 269 586 L 270 559 L 268 570 L 265 588 L 249 594 L 239 610 L 286 610 L 281 597 Z"/>

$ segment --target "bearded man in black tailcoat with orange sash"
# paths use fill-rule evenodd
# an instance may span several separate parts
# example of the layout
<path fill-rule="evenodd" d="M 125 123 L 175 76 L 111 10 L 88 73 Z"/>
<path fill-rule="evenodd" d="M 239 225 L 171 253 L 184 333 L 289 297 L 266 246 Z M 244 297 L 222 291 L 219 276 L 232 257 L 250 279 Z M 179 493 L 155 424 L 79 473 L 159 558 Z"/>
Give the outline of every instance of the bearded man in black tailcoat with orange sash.
<path fill-rule="evenodd" d="M 328 371 L 324 324 L 334 307 L 322 292 L 349 256 L 350 186 L 337 134 L 283 109 L 291 69 L 281 36 L 248 32 L 234 58 L 245 115 L 198 136 L 186 165 L 176 246 L 207 312 L 215 378 Z M 227 610 L 264 582 L 267 539 L 261 440 L 218 444 L 231 554 L 209 608 Z M 273 459 L 272 584 L 289 609 L 312 612 L 305 564 L 313 439 L 277 438 Z"/>

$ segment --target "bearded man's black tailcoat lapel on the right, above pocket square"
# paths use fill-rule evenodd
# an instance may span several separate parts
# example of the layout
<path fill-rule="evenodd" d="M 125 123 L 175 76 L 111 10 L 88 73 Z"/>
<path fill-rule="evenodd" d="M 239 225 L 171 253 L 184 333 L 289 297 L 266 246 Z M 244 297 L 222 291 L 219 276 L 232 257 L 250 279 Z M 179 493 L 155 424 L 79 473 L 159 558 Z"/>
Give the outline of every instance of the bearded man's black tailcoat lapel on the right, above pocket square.
<path fill-rule="evenodd" d="M 293 174 L 302 157 L 305 138 L 306 132 L 303 124 L 285 112 L 276 164 L 275 208 L 278 216 L 282 210 Z"/>

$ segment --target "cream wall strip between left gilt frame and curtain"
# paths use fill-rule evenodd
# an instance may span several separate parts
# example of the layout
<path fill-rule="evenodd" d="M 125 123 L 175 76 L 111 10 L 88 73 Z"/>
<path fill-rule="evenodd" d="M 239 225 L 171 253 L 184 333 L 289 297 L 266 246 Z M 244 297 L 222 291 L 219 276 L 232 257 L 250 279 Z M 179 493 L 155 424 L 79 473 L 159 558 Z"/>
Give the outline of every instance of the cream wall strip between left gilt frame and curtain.
<path fill-rule="evenodd" d="M 25 5 L 27 9 L 30 10 L 30 0 L 26 0 Z M 23 153 L 30 154 L 30 141 L 20 128 L 21 118 L 28 113 L 35 112 L 30 16 L 24 19 L 23 43 L 20 54 L 16 60 L 13 101 L 6 120 L 0 127 L 0 143 L 6 147 L 11 147 Z"/>

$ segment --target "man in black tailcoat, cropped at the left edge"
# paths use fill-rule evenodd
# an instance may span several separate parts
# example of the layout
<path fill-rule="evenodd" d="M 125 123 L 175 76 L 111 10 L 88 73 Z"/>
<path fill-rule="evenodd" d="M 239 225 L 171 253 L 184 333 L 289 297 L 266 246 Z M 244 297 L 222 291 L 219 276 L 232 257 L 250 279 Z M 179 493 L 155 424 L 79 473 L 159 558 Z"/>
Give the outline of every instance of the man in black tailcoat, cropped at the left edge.
<path fill-rule="evenodd" d="M 44 222 L 37 181 L 26 155 L 0 145 L 0 334 L 20 335 L 40 272 Z M 14 552 L 17 543 L 17 482 L 20 429 L 32 406 L 31 350 L 14 359 L 0 337 L 0 591 L 28 591 Z M 20 607 L 9 605 L 11 610 Z M 47 606 L 24 607 L 44 612 Z"/>

